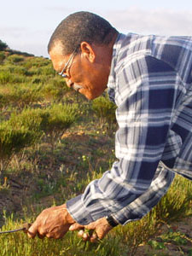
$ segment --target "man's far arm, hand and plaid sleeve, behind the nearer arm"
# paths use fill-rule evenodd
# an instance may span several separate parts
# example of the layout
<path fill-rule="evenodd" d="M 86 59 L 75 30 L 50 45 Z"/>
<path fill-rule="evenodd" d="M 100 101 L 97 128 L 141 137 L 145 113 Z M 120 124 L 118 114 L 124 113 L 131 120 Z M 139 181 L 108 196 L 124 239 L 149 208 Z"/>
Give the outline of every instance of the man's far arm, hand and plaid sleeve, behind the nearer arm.
<path fill-rule="evenodd" d="M 143 195 L 138 197 L 137 200 L 132 201 L 128 206 L 122 208 L 119 212 L 112 214 L 113 219 L 117 223 L 127 224 L 130 221 L 143 218 L 143 216 L 160 201 L 162 196 L 166 194 L 175 174 L 159 165 L 154 176 L 150 187 Z M 86 230 L 95 230 L 95 232 L 91 236 L 88 236 L 88 234 L 83 231 L 84 228 Z M 94 242 L 97 237 L 102 239 L 112 229 L 113 227 L 108 224 L 106 218 L 99 218 L 85 227 L 77 223 L 73 224 L 69 230 L 80 230 L 79 236 L 81 236 L 84 241 L 90 240 Z"/>

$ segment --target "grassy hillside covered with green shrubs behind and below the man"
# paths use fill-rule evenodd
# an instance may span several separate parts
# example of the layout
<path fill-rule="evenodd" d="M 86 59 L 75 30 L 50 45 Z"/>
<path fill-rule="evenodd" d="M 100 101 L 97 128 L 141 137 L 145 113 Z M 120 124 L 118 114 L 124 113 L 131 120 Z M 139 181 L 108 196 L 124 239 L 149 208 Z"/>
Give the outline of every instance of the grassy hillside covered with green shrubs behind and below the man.
<path fill-rule="evenodd" d="M 0 109 L 2 230 L 32 222 L 44 207 L 79 195 L 115 160 L 115 106 L 106 95 L 89 102 L 68 90 L 48 59 L 0 51 Z M 191 255 L 191 236 L 172 230 L 173 221 L 192 213 L 191 189 L 177 177 L 148 216 L 113 229 L 96 245 L 79 241 L 75 233 L 61 241 L 31 241 L 20 233 L 0 236 L 0 255 L 123 256 L 136 255 L 139 245 L 149 247 L 146 255 Z M 183 254 L 168 254 L 166 238 L 156 239 L 162 223 L 168 225 L 168 241 L 177 240 Z"/>

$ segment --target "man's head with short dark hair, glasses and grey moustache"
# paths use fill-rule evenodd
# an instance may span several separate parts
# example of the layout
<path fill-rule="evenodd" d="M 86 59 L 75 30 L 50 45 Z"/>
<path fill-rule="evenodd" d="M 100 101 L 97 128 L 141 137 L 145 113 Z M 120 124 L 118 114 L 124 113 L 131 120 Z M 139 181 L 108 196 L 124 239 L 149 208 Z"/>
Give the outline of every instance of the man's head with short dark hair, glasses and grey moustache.
<path fill-rule="evenodd" d="M 54 68 L 67 85 L 89 99 L 100 96 L 108 83 L 113 43 L 118 32 L 107 20 L 78 12 L 62 20 L 48 45 Z"/>

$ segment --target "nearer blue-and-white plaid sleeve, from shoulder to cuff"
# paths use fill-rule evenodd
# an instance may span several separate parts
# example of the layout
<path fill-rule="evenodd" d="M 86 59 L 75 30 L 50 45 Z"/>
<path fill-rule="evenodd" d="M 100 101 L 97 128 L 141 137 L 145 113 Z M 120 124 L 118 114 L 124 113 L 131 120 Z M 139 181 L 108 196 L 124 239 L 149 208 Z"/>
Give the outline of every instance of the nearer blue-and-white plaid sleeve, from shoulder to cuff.
<path fill-rule="evenodd" d="M 177 73 L 151 56 L 134 57 L 117 73 L 119 130 L 111 170 L 67 201 L 79 224 L 119 212 L 146 193 L 161 160 L 175 108 Z"/>

